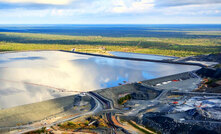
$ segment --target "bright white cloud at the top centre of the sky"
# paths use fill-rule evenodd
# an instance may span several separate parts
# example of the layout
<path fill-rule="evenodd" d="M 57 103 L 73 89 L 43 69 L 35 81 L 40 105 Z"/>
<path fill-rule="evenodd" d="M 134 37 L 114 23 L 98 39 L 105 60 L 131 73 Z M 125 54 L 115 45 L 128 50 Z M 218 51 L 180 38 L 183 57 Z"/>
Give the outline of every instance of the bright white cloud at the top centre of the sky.
<path fill-rule="evenodd" d="M 76 8 L 52 9 L 51 15 L 71 16 L 79 14 L 110 15 L 122 13 L 146 13 L 154 7 L 153 2 L 154 0 L 95 0 L 90 3 L 90 5 L 84 3 L 84 5 L 80 4 L 80 6 Z"/>

